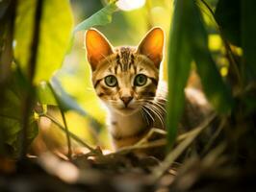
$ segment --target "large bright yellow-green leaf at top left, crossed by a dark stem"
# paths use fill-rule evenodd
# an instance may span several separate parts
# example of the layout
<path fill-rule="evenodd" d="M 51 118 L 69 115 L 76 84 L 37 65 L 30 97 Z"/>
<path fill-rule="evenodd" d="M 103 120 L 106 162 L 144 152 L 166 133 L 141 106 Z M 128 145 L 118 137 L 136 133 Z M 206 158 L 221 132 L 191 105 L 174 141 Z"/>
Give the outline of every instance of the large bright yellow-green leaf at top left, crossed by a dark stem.
<path fill-rule="evenodd" d="M 24 74 L 28 72 L 31 41 L 34 33 L 37 1 L 18 1 L 15 20 L 14 57 Z M 49 80 L 60 68 L 67 51 L 72 29 L 72 14 L 68 0 L 44 0 L 39 23 L 38 57 L 34 82 Z"/>

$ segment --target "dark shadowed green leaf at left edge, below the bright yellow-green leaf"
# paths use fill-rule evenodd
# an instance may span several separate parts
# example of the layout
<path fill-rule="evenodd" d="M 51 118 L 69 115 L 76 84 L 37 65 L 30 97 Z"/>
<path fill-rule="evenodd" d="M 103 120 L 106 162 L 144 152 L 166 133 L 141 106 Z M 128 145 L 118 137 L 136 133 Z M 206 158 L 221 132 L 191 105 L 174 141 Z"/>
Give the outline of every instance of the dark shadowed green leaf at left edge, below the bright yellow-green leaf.
<path fill-rule="evenodd" d="M 0 108 L 0 132 L 1 142 L 4 143 L 5 152 L 8 156 L 17 157 L 20 152 L 20 132 L 22 129 L 22 101 L 24 93 L 28 91 L 28 84 L 24 82 L 21 74 L 14 70 L 12 79 L 6 84 L 6 89 L 1 93 L 1 108 Z M 26 143 L 31 141 L 38 134 L 37 122 L 34 119 L 34 114 L 30 115 L 30 123 L 27 127 Z"/>

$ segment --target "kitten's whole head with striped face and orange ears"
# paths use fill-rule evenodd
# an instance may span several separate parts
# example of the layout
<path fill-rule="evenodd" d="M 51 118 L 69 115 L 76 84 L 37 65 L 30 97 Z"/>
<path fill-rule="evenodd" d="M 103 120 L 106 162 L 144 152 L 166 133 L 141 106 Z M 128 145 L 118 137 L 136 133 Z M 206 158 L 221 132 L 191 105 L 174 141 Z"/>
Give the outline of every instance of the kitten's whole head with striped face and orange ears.
<path fill-rule="evenodd" d="M 163 56 L 162 29 L 151 30 L 137 49 L 113 49 L 109 41 L 94 29 L 87 32 L 85 44 L 92 83 L 108 108 L 129 115 L 154 99 Z"/>

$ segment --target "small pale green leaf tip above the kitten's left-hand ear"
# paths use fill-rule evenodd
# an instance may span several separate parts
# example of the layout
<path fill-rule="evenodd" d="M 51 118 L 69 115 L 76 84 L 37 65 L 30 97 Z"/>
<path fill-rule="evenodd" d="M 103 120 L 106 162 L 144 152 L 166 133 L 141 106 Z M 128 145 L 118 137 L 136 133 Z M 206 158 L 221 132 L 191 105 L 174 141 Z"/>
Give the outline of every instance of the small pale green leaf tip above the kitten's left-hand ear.
<path fill-rule="evenodd" d="M 88 19 L 78 24 L 74 29 L 74 33 L 81 30 L 88 30 L 93 26 L 102 26 L 111 23 L 112 14 L 116 11 L 116 9 L 117 7 L 115 2 L 108 4 L 106 7 L 98 12 L 95 12 Z"/>

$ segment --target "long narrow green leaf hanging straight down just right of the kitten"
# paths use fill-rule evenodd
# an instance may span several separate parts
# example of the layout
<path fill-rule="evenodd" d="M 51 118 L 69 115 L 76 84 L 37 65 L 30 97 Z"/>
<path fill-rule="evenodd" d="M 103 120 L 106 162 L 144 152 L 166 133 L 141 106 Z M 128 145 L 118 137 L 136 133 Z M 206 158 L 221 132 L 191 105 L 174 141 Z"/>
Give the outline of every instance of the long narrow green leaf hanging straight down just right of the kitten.
<path fill-rule="evenodd" d="M 172 26 L 168 42 L 168 96 L 167 96 L 167 138 L 171 146 L 175 140 L 178 124 L 184 108 L 184 88 L 186 86 L 192 56 L 187 32 L 190 15 L 188 0 L 176 0 L 172 17 Z M 183 13 L 186 12 L 186 13 Z"/>

